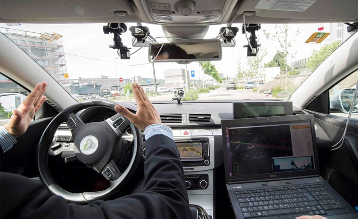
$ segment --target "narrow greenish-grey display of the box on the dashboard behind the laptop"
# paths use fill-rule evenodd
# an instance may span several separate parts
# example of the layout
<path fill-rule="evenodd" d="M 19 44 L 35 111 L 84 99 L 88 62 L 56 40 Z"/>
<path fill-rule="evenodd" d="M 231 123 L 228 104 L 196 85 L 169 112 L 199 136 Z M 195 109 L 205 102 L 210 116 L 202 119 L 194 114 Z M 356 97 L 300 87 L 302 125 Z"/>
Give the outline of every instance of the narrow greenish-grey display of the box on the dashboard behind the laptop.
<path fill-rule="evenodd" d="M 242 118 L 283 116 L 285 106 L 243 106 Z"/>

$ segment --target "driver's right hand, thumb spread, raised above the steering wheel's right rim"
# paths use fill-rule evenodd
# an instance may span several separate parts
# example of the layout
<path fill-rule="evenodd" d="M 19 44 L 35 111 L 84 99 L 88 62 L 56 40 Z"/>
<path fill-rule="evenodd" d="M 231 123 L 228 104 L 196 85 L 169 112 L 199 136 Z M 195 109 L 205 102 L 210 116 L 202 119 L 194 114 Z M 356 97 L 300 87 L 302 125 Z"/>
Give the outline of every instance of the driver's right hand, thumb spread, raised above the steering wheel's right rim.
<path fill-rule="evenodd" d="M 126 107 L 119 104 L 115 106 L 115 111 L 127 117 L 135 126 L 141 130 L 145 130 L 145 128 L 149 125 L 161 123 L 157 110 L 150 103 L 147 95 L 144 93 L 143 88 L 137 83 L 133 83 L 132 90 L 134 98 L 137 102 L 137 113 L 134 114 Z"/>

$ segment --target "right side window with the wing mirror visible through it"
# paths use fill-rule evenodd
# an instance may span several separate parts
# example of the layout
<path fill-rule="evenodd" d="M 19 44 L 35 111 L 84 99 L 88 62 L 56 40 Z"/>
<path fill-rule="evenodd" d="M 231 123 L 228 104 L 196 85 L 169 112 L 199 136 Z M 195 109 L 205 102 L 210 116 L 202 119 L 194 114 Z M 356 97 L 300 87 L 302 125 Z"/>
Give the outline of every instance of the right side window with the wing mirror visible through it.
<path fill-rule="evenodd" d="M 349 109 L 353 105 L 351 118 L 358 118 L 358 98 L 353 103 L 357 79 L 358 70 L 329 90 L 330 114 L 348 117 Z"/>

